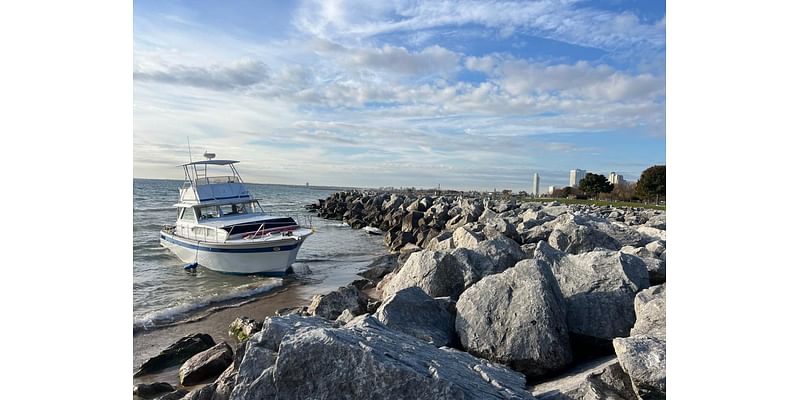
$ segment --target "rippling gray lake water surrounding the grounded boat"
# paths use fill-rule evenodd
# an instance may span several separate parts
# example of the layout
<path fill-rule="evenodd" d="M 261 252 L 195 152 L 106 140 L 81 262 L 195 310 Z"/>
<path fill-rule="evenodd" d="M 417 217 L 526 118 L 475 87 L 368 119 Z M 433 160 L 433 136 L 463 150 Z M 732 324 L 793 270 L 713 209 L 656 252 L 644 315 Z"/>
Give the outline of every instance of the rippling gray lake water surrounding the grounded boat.
<path fill-rule="evenodd" d="M 300 248 L 290 278 L 238 276 L 202 267 L 183 270 L 181 262 L 159 244 L 163 225 L 174 224 L 182 181 L 133 180 L 133 329 L 150 330 L 181 323 L 219 308 L 247 302 L 287 284 L 318 284 L 337 270 L 352 270 L 385 254 L 382 237 L 346 224 L 317 218 L 303 206 L 326 198 L 335 189 L 248 184 L 253 197 L 271 215 L 311 218 L 316 232 Z"/>

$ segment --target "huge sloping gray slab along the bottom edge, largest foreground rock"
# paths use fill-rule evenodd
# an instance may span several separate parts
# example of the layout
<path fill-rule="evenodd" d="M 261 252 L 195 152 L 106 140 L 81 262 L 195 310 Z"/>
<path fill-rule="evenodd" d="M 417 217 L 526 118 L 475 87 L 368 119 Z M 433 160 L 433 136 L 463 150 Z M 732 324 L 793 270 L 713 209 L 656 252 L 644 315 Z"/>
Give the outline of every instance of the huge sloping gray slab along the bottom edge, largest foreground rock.
<path fill-rule="evenodd" d="M 367 315 L 344 328 L 287 331 L 278 349 L 274 364 L 262 365 L 256 381 L 237 383 L 231 400 L 533 399 L 522 374 L 436 348 Z"/>

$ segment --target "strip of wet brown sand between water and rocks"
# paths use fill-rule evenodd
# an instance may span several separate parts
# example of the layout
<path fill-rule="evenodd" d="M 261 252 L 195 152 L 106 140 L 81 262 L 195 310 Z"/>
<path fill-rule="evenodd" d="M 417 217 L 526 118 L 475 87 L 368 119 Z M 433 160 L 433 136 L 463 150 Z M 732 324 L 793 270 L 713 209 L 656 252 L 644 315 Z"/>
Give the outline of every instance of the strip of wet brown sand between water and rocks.
<path fill-rule="evenodd" d="M 287 278 L 283 287 L 246 304 L 221 309 L 192 322 L 137 333 L 133 336 L 131 375 L 148 358 L 157 355 L 161 350 L 186 335 L 207 333 L 214 338 L 215 342 L 225 341 L 231 347 L 235 347 L 236 340 L 228 336 L 228 326 L 236 317 L 244 316 L 263 321 L 264 318 L 275 315 L 275 312 L 282 308 L 307 306 L 315 294 L 325 294 L 356 279 L 361 279 L 356 273 L 364 270 L 368 264 L 369 261 L 357 262 L 338 266 L 335 270 L 300 276 L 297 279 Z M 178 383 L 178 368 L 179 366 L 175 366 L 155 374 L 133 378 L 133 384 L 168 382 L 175 388 L 181 388 L 182 386 Z M 195 387 L 197 386 L 185 387 L 185 389 L 191 390 Z"/>

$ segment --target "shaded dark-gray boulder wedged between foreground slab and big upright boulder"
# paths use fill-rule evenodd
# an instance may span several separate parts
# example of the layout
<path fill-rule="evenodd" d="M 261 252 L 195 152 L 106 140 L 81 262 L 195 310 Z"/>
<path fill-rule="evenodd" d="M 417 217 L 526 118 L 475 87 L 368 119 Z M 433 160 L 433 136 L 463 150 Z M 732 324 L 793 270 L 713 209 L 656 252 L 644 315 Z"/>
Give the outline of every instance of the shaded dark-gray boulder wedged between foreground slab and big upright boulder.
<path fill-rule="evenodd" d="M 390 329 L 422 339 L 436 347 L 452 346 L 455 314 L 418 287 L 389 296 L 375 312 L 375 318 Z"/>

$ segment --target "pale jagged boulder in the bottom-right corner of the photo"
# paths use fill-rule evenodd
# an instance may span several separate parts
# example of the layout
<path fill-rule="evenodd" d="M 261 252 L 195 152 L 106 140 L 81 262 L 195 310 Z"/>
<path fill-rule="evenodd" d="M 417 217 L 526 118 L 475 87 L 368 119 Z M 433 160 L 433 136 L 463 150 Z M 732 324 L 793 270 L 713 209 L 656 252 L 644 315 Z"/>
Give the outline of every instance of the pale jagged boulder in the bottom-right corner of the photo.
<path fill-rule="evenodd" d="M 650 336 L 614 339 L 619 364 L 642 399 L 667 398 L 667 342 Z"/>

